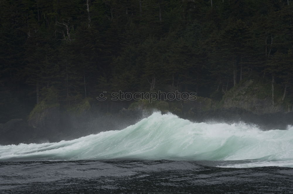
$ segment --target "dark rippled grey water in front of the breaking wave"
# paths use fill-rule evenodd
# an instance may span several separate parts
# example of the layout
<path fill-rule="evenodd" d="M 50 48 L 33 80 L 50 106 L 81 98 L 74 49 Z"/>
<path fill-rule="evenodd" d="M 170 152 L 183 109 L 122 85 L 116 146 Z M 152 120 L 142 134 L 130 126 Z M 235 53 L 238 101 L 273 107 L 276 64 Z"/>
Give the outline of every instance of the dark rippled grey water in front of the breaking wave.
<path fill-rule="evenodd" d="M 293 193 L 293 168 L 221 162 L 82 160 L 0 162 L 0 193 Z"/>

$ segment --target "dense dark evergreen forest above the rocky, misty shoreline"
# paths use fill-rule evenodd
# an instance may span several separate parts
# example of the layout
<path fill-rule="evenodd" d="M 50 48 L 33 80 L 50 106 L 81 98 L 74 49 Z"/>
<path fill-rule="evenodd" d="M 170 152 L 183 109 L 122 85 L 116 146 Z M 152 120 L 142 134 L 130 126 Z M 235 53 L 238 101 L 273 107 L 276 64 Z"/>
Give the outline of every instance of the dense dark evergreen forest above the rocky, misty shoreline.
<path fill-rule="evenodd" d="M 0 123 L 42 101 L 98 104 L 103 91 L 219 100 L 261 79 L 293 95 L 289 0 L 0 0 L 0 8 Z"/>

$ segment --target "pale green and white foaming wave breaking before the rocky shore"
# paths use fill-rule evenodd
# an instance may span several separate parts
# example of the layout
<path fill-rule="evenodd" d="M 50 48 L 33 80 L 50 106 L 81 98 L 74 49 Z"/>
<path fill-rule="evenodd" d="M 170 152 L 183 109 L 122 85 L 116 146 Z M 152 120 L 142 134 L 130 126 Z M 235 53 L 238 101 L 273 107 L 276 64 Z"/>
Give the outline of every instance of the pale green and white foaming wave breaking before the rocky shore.
<path fill-rule="evenodd" d="M 71 141 L 0 146 L 0 161 L 218 161 L 217 167 L 293 167 L 293 127 L 260 130 L 245 123 L 193 123 L 153 113 L 123 130 Z"/>

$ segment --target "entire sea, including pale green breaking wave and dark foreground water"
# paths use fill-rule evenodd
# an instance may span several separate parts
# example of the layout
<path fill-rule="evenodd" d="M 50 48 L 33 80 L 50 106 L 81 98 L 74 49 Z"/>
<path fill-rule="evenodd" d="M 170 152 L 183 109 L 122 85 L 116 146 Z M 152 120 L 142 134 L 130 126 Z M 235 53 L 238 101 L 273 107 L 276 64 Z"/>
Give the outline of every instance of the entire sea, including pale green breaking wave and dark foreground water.
<path fill-rule="evenodd" d="M 293 127 L 153 113 L 123 130 L 0 146 L 0 193 L 293 193 Z"/>

